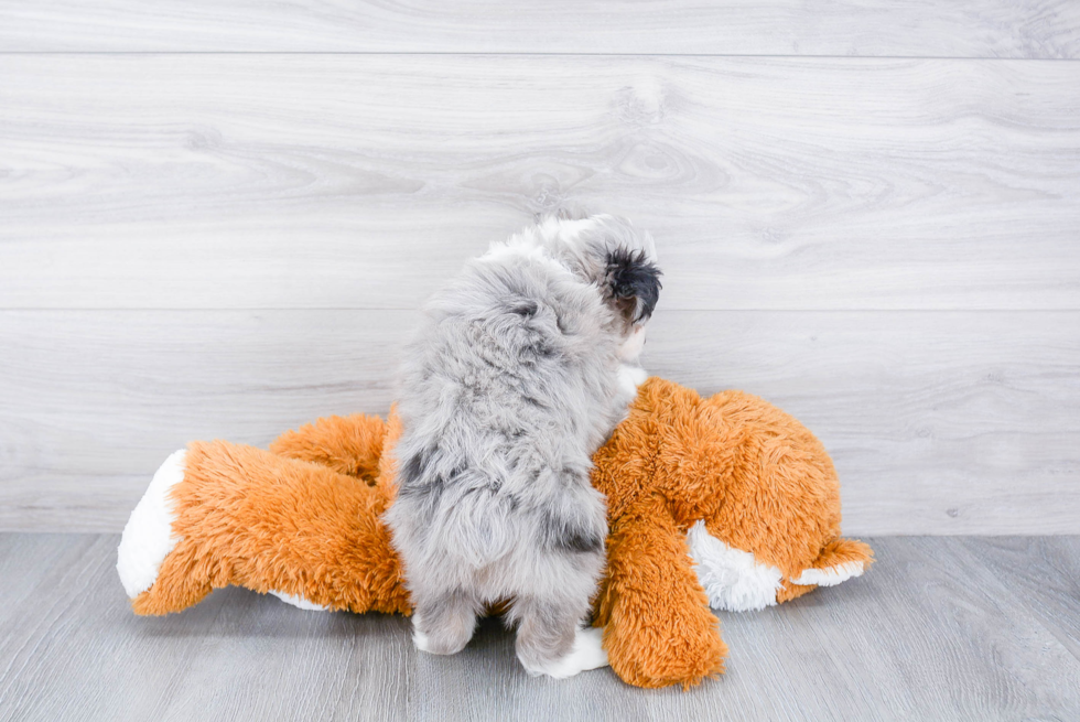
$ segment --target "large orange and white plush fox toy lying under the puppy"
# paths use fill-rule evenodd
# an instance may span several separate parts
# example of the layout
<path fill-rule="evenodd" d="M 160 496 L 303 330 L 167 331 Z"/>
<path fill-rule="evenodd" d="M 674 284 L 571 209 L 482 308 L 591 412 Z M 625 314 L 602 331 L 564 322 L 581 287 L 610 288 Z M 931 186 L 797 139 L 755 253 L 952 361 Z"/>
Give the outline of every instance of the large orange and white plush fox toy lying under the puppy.
<path fill-rule="evenodd" d="M 393 503 L 397 418 L 331 417 L 270 451 L 194 442 L 131 514 L 117 570 L 138 614 L 236 584 L 312 610 L 409 614 L 381 520 Z M 630 685 L 724 670 L 720 610 L 758 610 L 871 563 L 840 537 L 840 485 L 821 443 L 762 399 L 702 399 L 650 378 L 594 456 L 607 496 L 607 571 L 594 624 Z"/>

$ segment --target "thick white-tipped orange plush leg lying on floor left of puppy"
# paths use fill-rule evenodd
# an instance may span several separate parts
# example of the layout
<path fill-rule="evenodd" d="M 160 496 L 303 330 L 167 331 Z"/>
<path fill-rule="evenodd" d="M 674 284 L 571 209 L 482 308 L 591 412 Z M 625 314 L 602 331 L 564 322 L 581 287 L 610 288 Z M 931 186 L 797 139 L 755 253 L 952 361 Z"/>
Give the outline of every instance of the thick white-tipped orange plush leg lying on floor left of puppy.
<path fill-rule="evenodd" d="M 177 612 L 229 584 L 317 607 L 408 613 L 379 518 L 389 499 L 317 464 L 195 442 L 155 475 L 117 568 L 139 614 Z"/>

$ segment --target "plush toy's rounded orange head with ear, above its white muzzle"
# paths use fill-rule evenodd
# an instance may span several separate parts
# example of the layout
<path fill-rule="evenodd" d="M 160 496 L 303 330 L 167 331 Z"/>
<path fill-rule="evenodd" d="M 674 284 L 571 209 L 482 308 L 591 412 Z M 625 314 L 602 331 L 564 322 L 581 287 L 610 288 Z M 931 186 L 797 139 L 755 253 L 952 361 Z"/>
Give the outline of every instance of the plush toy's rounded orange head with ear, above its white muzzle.
<path fill-rule="evenodd" d="M 840 482 L 806 427 L 742 391 L 702 399 L 659 378 L 593 457 L 608 519 L 660 496 L 679 528 L 704 520 L 730 547 L 796 578 L 840 538 Z M 862 559 L 860 559 L 862 560 Z"/>

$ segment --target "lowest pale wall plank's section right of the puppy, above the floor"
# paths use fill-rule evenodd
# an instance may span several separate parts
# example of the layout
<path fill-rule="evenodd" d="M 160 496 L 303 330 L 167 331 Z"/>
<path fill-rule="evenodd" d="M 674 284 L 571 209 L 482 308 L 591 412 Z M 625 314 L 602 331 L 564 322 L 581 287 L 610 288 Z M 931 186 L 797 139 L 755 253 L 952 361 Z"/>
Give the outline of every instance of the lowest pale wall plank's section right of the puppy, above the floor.
<path fill-rule="evenodd" d="M 1080 528 L 1074 313 L 673 315 L 649 369 L 800 419 L 836 462 L 845 530 Z"/>

